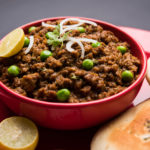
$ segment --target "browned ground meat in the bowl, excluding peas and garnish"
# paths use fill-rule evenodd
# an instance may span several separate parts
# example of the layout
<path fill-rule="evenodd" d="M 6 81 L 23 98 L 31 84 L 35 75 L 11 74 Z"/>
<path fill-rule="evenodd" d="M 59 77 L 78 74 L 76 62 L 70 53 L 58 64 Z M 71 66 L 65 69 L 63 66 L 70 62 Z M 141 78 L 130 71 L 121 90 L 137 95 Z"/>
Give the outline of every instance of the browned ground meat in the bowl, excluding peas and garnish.
<path fill-rule="evenodd" d="M 58 24 L 60 20 L 48 21 L 49 24 Z M 74 24 L 69 21 L 67 24 Z M 86 102 L 102 99 L 116 94 L 132 84 L 139 74 L 140 61 L 130 53 L 130 46 L 120 41 L 114 33 L 97 27 L 83 24 L 86 32 L 80 33 L 73 30 L 69 35 L 84 37 L 101 42 L 101 46 L 93 48 L 91 43 L 83 42 L 85 58 L 94 61 L 94 67 L 90 71 L 82 68 L 83 59 L 81 49 L 77 44 L 73 45 L 72 53 L 63 46 L 58 46 L 45 61 L 41 61 L 40 53 L 43 50 L 51 50 L 47 45 L 45 34 L 53 31 L 53 28 L 39 26 L 29 35 L 34 35 L 34 45 L 28 54 L 24 54 L 23 48 L 16 56 L 0 59 L 0 81 L 15 92 L 31 98 L 57 102 L 56 92 L 62 88 L 71 91 L 68 102 Z M 117 46 L 127 47 L 127 52 L 122 54 Z M 8 67 L 17 65 L 21 73 L 18 77 L 8 74 Z M 134 74 L 131 82 L 124 83 L 121 73 L 130 70 Z M 76 78 L 73 78 L 73 77 Z"/>

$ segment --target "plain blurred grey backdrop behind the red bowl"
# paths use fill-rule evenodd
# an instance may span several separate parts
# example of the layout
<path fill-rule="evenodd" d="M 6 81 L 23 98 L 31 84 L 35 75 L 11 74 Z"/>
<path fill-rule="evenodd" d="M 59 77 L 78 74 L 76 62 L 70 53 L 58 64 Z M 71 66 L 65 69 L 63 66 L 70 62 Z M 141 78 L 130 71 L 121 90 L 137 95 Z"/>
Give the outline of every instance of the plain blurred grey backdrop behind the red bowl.
<path fill-rule="evenodd" d="M 150 30 L 150 0 L 0 0 L 0 38 L 30 21 L 82 16 Z"/>

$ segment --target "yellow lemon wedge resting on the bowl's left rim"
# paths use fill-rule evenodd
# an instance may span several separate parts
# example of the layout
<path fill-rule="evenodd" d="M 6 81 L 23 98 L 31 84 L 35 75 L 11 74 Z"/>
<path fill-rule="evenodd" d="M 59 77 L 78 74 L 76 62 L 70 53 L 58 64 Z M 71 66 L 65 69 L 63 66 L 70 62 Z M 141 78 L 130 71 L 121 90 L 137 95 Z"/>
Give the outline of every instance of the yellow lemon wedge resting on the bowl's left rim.
<path fill-rule="evenodd" d="M 0 42 L 0 57 L 11 57 L 17 54 L 24 45 L 24 31 L 17 28 L 6 35 Z"/>

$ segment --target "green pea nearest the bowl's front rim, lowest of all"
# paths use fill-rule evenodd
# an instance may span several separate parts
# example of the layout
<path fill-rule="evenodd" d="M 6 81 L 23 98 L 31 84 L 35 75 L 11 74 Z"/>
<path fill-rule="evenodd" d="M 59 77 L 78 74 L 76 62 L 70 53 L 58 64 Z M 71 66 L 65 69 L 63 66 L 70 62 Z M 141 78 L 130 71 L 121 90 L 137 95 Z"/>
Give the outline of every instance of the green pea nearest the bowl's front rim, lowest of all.
<path fill-rule="evenodd" d="M 65 102 L 70 96 L 70 91 L 68 89 L 61 89 L 57 91 L 56 95 L 60 102 Z"/>

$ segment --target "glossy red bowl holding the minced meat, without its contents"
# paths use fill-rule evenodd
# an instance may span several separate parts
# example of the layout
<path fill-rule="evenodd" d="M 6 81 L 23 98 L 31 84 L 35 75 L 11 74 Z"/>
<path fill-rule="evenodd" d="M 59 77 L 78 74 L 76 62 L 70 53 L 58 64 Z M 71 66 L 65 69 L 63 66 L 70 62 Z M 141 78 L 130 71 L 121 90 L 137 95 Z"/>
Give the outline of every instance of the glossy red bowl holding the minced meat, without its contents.
<path fill-rule="evenodd" d="M 66 17 L 47 18 L 21 26 L 25 31 L 30 26 L 38 26 L 42 21 L 64 19 Z M 122 92 L 101 100 L 85 103 L 53 103 L 31 99 L 19 95 L 0 82 L 0 99 L 16 114 L 27 116 L 41 126 L 53 129 L 82 129 L 102 123 L 125 110 L 134 100 L 142 85 L 146 73 L 147 61 L 143 48 L 131 36 L 118 27 L 95 19 L 104 29 L 115 33 L 123 41 L 127 41 L 133 55 L 141 61 L 139 78 Z"/>

